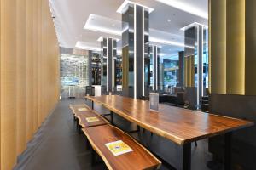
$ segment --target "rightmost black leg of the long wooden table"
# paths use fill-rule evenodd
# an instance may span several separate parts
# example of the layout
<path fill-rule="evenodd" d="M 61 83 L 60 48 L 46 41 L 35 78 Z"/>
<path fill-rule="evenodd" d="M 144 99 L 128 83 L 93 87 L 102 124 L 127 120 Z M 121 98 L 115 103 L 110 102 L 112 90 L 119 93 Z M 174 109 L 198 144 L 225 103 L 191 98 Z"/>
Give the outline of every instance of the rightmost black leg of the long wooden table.
<path fill-rule="evenodd" d="M 231 139 L 232 133 L 225 133 L 224 169 L 231 169 Z"/>

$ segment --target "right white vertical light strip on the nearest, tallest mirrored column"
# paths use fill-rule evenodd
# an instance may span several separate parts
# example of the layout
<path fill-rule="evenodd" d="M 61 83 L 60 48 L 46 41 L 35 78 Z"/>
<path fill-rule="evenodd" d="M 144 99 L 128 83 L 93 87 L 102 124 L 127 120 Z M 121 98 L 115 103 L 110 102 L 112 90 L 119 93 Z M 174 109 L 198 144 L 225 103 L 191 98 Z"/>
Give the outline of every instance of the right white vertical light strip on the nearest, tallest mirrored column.
<path fill-rule="evenodd" d="M 143 96 L 145 96 L 145 16 L 143 7 Z"/>

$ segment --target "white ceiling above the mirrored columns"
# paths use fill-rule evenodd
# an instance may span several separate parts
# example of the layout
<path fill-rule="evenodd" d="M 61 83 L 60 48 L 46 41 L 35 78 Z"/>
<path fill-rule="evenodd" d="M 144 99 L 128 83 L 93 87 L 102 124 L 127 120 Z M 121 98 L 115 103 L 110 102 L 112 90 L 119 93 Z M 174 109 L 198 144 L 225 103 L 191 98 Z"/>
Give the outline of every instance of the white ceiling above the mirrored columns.
<path fill-rule="evenodd" d="M 60 46 L 75 48 L 77 42 L 80 42 L 80 44 L 86 44 L 86 47 L 100 48 L 100 42 L 97 42 L 97 39 L 101 36 L 121 39 L 119 34 L 113 31 L 109 34 L 102 30 L 84 29 L 84 26 L 90 14 L 95 14 L 99 18 L 100 22 L 97 23 L 99 26 L 121 31 L 119 28 L 122 24 L 121 14 L 116 11 L 123 2 L 123 0 L 49 0 L 55 17 L 55 30 Z M 152 42 L 160 44 L 162 46 L 160 52 L 166 54 L 168 58 L 183 50 L 183 45 L 180 45 L 183 44 L 184 39 L 184 32 L 180 30 L 183 26 L 194 22 L 207 26 L 206 17 L 198 15 L 208 13 L 208 0 L 166 0 L 167 3 L 172 2 L 174 5 L 178 3 L 175 7 L 160 3 L 165 0 L 134 0 L 133 2 L 154 8 L 149 15 L 150 41 L 164 40 L 169 43 L 166 45 L 160 44 L 159 41 Z"/>

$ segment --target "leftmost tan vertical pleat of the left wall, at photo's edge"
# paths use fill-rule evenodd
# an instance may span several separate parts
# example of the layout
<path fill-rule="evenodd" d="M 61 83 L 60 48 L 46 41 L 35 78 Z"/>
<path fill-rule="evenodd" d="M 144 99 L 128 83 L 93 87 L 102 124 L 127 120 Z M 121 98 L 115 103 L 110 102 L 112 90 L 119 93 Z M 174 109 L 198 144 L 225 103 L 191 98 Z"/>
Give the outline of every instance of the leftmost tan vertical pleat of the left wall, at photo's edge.
<path fill-rule="evenodd" d="M 1 1 L 1 169 L 16 156 L 16 2 Z"/>

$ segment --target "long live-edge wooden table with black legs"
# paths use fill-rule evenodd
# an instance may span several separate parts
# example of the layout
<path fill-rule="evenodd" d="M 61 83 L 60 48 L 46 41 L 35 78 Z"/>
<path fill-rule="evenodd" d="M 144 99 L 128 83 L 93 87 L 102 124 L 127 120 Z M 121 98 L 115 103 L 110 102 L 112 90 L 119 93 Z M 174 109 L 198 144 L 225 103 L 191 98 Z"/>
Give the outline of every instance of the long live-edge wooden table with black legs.
<path fill-rule="evenodd" d="M 158 112 L 149 109 L 149 102 L 118 95 L 86 96 L 93 102 L 183 147 L 183 169 L 191 169 L 191 143 L 219 134 L 225 135 L 225 169 L 230 170 L 231 134 L 253 122 L 161 105 Z"/>

